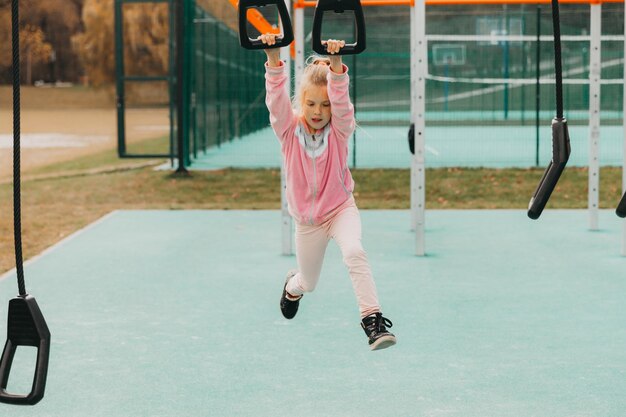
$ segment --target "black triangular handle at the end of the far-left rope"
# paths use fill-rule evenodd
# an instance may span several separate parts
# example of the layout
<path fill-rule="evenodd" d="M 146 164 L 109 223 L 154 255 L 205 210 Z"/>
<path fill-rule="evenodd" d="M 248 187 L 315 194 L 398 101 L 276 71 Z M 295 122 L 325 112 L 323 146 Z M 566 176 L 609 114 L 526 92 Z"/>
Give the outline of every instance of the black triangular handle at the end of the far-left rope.
<path fill-rule="evenodd" d="M 37 364 L 30 393 L 19 395 L 6 391 L 15 352 L 20 346 L 37 348 Z M 50 356 L 50 331 L 46 320 L 31 295 L 9 301 L 7 341 L 0 359 L 0 402 L 16 405 L 37 404 L 44 395 Z"/>

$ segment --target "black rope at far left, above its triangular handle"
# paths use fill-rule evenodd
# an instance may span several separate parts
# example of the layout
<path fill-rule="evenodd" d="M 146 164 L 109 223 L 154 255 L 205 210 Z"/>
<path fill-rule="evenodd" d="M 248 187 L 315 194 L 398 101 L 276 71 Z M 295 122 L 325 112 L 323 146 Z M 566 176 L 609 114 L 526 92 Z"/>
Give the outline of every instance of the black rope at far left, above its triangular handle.
<path fill-rule="evenodd" d="M 19 0 L 11 2 L 13 30 L 13 236 L 15 238 L 15 267 L 20 295 L 26 295 L 22 262 L 22 221 L 20 203 L 20 16 Z"/>

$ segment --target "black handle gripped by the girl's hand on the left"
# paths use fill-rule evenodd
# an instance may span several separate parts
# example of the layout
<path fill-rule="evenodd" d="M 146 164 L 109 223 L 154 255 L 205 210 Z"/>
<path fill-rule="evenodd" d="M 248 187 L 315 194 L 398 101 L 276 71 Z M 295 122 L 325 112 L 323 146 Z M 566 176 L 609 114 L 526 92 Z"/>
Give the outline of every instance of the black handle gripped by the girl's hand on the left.
<path fill-rule="evenodd" d="M 276 5 L 280 15 L 283 34 L 276 37 L 274 45 L 267 45 L 259 39 L 248 36 L 248 9 Z M 293 42 L 293 27 L 284 0 L 239 0 L 239 44 L 246 49 L 273 49 L 289 46 Z"/>

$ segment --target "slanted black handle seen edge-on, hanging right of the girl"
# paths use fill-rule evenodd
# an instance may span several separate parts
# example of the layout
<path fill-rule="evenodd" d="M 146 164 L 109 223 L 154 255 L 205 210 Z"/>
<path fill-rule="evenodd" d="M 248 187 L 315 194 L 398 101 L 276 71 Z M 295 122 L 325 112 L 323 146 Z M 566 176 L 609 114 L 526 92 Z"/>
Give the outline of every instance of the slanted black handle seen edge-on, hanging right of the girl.
<path fill-rule="evenodd" d="M 552 119 L 552 160 L 543 173 L 541 181 L 528 204 L 528 217 L 536 220 L 541 216 L 550 195 L 559 182 L 561 173 L 571 153 L 567 120 L 564 118 Z"/>

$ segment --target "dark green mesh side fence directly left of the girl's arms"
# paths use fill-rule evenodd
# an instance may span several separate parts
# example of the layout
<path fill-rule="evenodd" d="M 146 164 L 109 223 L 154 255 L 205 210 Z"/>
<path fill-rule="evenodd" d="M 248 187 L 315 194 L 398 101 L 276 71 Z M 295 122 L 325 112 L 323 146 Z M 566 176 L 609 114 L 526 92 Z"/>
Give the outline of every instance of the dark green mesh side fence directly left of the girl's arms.
<path fill-rule="evenodd" d="M 263 68 L 238 34 L 196 6 L 191 45 L 191 142 L 198 151 L 267 126 Z M 258 55 L 258 54 L 257 54 Z"/>

